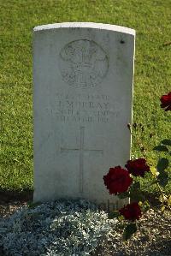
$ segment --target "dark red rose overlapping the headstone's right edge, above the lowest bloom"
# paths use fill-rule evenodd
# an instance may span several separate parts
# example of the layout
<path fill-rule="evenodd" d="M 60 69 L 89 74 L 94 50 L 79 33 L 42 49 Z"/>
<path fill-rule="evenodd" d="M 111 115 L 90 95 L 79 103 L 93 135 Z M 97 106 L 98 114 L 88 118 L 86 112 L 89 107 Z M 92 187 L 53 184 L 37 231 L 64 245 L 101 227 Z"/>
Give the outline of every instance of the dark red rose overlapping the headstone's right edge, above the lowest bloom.
<path fill-rule="evenodd" d="M 145 171 L 150 171 L 150 167 L 146 164 L 146 160 L 144 158 L 129 160 L 125 166 L 128 172 L 133 176 L 144 177 Z"/>

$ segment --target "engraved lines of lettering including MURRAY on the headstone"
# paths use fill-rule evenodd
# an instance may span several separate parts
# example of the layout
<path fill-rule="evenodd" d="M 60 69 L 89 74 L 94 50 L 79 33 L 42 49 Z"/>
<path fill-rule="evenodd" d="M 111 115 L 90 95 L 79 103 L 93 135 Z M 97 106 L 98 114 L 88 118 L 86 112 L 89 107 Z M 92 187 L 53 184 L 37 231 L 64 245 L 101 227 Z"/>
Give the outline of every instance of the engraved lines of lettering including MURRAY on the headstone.
<path fill-rule="evenodd" d="M 118 116 L 120 105 L 109 95 L 56 93 L 55 105 L 48 110 L 60 122 L 103 122 Z"/>

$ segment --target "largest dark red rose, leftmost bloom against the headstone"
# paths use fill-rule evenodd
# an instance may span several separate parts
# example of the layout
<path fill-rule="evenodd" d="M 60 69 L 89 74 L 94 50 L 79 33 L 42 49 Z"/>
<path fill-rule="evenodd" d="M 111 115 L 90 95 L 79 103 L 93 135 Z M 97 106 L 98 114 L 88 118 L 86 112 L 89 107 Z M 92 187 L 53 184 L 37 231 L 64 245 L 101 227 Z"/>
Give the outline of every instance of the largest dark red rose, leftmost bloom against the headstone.
<path fill-rule="evenodd" d="M 126 192 L 127 188 L 133 182 L 127 170 L 122 169 L 121 166 L 110 168 L 109 173 L 103 176 L 105 186 L 109 189 L 109 193 Z"/>

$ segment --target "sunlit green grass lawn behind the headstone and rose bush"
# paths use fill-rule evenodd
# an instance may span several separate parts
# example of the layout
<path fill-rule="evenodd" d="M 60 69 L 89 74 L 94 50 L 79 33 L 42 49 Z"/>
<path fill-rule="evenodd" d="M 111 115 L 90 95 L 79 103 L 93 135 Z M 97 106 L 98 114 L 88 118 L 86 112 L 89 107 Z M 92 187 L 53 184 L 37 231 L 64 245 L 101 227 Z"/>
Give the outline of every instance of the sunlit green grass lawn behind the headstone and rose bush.
<path fill-rule="evenodd" d="M 133 122 L 143 124 L 139 141 L 156 164 L 152 148 L 171 134 L 171 113 L 160 108 L 171 91 L 170 16 L 170 0 L 0 0 L 2 190 L 33 189 L 32 28 L 42 24 L 92 21 L 136 30 Z M 132 155 L 139 158 L 135 134 Z"/>

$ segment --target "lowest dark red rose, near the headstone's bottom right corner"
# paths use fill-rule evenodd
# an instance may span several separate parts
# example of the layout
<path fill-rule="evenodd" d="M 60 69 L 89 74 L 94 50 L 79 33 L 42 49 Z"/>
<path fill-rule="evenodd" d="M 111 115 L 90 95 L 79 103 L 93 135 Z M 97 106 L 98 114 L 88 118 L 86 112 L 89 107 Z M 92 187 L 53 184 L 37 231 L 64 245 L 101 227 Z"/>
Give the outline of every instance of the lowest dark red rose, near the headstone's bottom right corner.
<path fill-rule="evenodd" d="M 141 217 L 141 209 L 139 207 L 139 204 L 137 202 L 134 202 L 130 205 L 124 205 L 123 208 L 120 210 L 121 215 L 123 215 L 128 220 L 136 220 Z"/>

